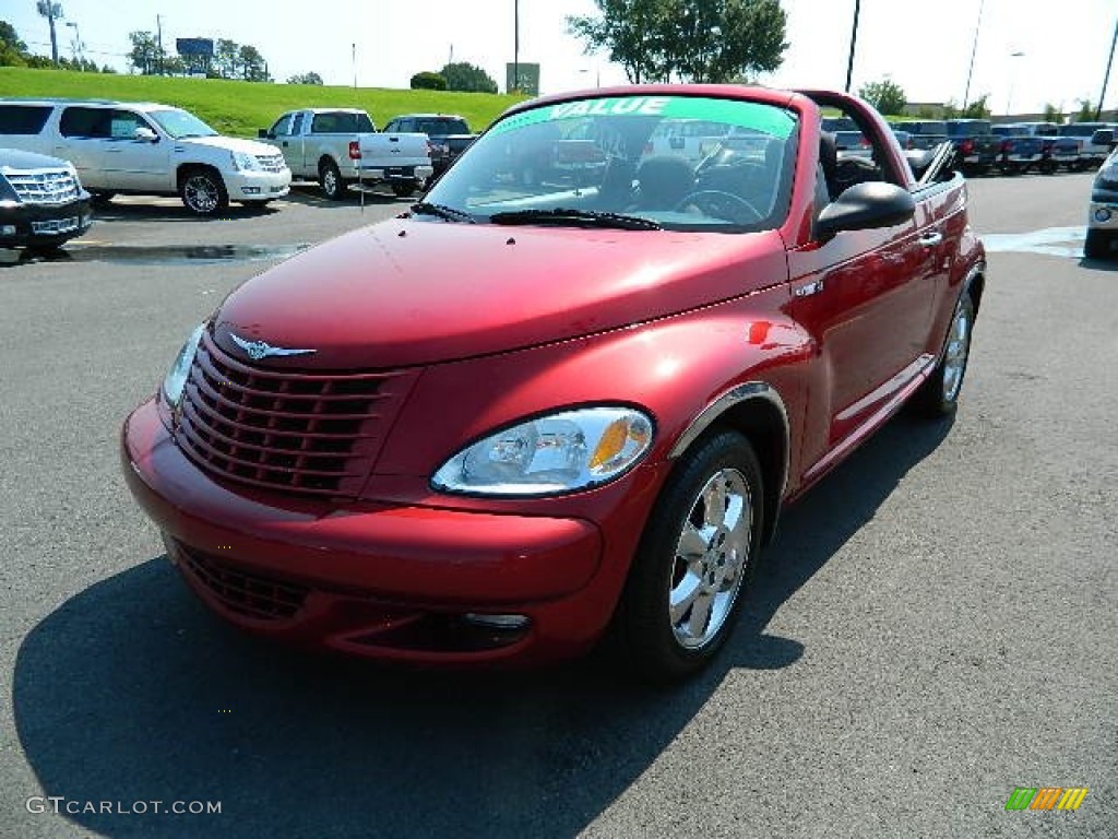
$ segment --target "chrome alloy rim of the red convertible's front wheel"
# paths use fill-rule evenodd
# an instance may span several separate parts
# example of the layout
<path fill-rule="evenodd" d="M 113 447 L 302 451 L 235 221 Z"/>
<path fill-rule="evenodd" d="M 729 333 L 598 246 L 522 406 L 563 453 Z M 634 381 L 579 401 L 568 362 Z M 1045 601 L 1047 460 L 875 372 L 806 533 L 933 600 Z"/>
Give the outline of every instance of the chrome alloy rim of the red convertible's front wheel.
<path fill-rule="evenodd" d="M 669 619 L 682 647 L 705 645 L 726 623 L 745 578 L 752 528 L 745 475 L 730 468 L 716 472 L 692 502 L 675 547 Z"/>

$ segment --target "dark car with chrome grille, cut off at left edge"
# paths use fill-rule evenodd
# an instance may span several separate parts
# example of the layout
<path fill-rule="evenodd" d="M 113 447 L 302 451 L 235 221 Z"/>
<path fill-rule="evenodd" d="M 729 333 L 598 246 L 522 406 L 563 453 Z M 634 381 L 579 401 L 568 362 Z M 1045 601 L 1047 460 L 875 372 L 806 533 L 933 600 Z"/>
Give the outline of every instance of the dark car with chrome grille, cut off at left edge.
<path fill-rule="evenodd" d="M 89 194 L 70 163 L 0 149 L 0 247 L 58 247 L 91 224 Z"/>

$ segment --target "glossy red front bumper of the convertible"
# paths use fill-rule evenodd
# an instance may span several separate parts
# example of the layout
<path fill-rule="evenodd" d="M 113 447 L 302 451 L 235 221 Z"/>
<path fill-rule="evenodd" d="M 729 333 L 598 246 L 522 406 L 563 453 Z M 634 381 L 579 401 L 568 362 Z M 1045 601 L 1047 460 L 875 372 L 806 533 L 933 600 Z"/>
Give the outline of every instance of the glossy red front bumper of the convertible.
<path fill-rule="evenodd" d="M 588 649 L 613 611 L 587 520 L 248 497 L 182 455 L 154 399 L 126 421 L 122 459 L 190 585 L 259 634 L 432 663 L 550 659 Z"/>

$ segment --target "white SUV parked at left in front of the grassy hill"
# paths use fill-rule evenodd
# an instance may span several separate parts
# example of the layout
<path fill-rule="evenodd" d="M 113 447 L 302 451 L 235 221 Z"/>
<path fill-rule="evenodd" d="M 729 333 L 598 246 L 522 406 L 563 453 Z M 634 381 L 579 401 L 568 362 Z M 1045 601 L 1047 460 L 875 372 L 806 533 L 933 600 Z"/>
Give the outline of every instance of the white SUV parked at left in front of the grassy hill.
<path fill-rule="evenodd" d="M 291 170 L 272 147 L 221 136 L 170 105 L 101 100 L 0 100 L 0 145 L 70 161 L 95 199 L 178 195 L 198 215 L 230 200 L 287 195 Z"/>

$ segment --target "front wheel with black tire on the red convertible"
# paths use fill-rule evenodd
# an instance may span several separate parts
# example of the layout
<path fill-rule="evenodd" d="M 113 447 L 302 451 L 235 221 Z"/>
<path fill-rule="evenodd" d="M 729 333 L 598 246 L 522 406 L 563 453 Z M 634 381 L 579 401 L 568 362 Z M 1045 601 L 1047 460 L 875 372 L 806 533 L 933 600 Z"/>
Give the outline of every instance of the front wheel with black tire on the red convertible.
<path fill-rule="evenodd" d="M 736 432 L 701 439 L 676 465 L 610 626 L 613 652 L 636 676 L 681 679 L 726 642 L 760 552 L 764 498 L 757 456 Z"/>

